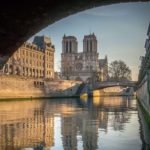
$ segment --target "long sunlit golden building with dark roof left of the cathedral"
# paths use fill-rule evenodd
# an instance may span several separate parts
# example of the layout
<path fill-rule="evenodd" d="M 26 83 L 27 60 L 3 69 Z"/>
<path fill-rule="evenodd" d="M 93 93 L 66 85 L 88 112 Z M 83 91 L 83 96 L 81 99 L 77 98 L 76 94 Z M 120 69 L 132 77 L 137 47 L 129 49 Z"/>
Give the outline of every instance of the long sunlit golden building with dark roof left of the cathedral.
<path fill-rule="evenodd" d="M 3 67 L 3 74 L 54 78 L 54 52 L 50 38 L 35 36 L 32 43 L 25 42 L 9 58 Z"/>

